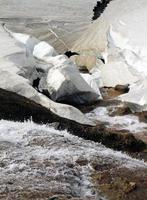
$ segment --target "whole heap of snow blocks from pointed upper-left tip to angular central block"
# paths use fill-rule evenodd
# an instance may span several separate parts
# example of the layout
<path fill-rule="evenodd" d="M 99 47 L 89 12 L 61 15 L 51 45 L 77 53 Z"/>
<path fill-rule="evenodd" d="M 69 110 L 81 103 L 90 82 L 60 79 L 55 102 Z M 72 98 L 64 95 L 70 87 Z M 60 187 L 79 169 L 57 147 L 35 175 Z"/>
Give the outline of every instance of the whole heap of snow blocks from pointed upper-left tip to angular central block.
<path fill-rule="evenodd" d="M 39 91 L 45 92 L 54 101 L 70 104 L 91 104 L 99 99 L 99 92 L 84 81 L 77 67 L 66 56 L 57 56 L 54 48 L 44 41 L 4 28 L 26 47 L 28 67 L 23 67 L 19 75 L 29 79 Z"/>

